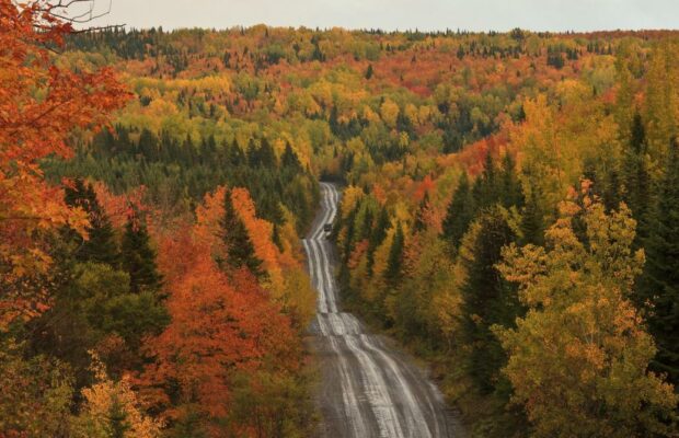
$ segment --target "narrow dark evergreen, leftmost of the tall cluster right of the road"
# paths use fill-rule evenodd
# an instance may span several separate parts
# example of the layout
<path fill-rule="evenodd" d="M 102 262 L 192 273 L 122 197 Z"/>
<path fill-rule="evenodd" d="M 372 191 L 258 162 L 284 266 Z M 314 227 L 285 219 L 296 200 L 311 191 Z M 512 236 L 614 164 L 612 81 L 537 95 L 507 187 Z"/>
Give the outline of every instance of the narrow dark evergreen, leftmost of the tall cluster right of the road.
<path fill-rule="evenodd" d="M 448 204 L 448 210 L 442 223 L 441 238 L 446 241 L 451 253 L 456 253 L 460 246 L 462 235 L 476 212 L 474 197 L 471 192 L 467 173 L 462 173 L 458 187 Z"/>

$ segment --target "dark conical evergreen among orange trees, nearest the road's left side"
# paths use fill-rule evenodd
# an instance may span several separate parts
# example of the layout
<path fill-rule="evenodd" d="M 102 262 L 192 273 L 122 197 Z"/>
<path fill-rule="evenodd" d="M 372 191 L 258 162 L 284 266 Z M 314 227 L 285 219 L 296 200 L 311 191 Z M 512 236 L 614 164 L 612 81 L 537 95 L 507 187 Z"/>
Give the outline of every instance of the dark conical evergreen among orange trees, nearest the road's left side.
<path fill-rule="evenodd" d="M 234 269 L 246 267 L 253 275 L 261 278 L 264 275 L 262 261 L 255 255 L 248 229 L 235 211 L 231 199 L 231 189 L 227 189 L 225 194 L 225 216 L 221 220 L 221 232 L 227 249 L 227 258 L 218 262 L 222 265 L 226 263 L 227 266 Z"/>

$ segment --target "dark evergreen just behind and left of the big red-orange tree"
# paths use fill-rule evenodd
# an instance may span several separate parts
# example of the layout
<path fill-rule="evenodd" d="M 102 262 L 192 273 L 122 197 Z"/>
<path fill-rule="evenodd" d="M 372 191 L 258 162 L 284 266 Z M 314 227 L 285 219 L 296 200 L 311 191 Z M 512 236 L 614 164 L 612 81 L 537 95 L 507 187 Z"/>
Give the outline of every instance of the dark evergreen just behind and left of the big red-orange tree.
<path fill-rule="evenodd" d="M 129 290 L 133 293 L 157 291 L 162 277 L 156 266 L 156 252 L 143 218 L 135 211 L 125 224 L 122 245 L 123 268 L 129 274 Z"/>

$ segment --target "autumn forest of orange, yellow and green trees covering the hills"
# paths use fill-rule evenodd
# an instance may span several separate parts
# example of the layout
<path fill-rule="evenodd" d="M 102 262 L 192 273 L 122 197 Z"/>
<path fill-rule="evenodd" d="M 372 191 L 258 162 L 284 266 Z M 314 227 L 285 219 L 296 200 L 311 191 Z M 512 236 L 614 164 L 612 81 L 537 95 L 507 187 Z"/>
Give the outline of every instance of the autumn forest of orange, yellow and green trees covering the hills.
<path fill-rule="evenodd" d="M 469 436 L 679 435 L 678 32 L 0 30 L 0 437 L 315 436 L 319 181 Z"/>

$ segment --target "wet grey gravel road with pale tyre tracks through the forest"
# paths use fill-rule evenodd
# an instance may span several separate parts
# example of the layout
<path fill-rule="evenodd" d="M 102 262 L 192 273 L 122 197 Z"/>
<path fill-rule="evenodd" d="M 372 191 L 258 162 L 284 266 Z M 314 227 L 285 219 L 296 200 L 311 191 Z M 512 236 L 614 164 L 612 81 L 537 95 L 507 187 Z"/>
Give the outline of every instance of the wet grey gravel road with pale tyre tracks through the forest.
<path fill-rule="evenodd" d="M 390 349 L 383 338 L 367 333 L 356 316 L 342 311 L 333 276 L 334 251 L 323 232 L 323 226 L 335 218 L 340 193 L 329 183 L 321 183 L 321 210 L 302 241 L 318 291 L 312 331 L 322 373 L 321 437 L 461 437 L 459 423 L 425 373 Z"/>

